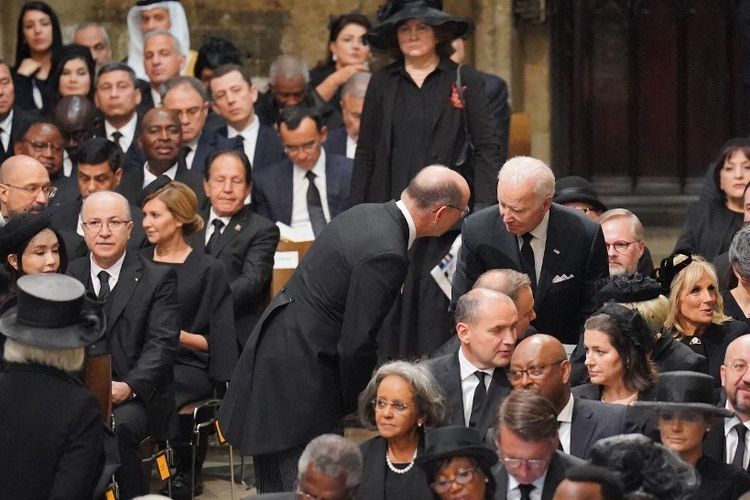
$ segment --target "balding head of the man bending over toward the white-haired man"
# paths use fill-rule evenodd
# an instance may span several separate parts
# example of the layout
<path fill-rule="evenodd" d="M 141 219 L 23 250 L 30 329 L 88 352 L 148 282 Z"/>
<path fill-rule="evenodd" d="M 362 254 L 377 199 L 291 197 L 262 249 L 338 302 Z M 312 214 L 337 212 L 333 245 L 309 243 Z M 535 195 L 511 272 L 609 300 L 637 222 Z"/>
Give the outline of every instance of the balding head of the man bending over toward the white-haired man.
<path fill-rule="evenodd" d="M 409 182 L 401 201 L 414 219 L 417 237 L 441 236 L 468 212 L 469 194 L 459 173 L 430 165 Z"/>

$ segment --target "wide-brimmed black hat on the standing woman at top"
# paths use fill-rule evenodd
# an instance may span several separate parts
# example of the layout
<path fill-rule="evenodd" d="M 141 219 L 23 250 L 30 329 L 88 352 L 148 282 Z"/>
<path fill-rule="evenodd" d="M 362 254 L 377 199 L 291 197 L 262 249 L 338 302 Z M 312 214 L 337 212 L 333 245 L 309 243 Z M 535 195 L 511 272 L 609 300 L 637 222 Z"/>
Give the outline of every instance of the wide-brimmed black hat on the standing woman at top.
<path fill-rule="evenodd" d="M 387 50 L 395 41 L 396 26 L 407 19 L 419 19 L 430 26 L 445 26 L 452 39 L 465 37 L 474 31 L 474 23 L 443 10 L 442 0 L 389 0 L 378 9 L 379 24 L 367 34 L 367 40 L 377 49 Z"/>

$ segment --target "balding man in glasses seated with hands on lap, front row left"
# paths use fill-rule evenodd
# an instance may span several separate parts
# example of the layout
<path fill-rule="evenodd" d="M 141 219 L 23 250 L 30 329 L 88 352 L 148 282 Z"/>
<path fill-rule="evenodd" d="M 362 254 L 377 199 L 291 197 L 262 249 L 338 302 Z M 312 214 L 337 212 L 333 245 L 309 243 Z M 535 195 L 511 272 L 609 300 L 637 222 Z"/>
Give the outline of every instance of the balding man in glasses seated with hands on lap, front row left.
<path fill-rule="evenodd" d="M 89 195 L 81 226 L 90 254 L 74 260 L 68 274 L 104 303 L 107 331 L 90 352 L 112 355 L 112 406 L 122 465 L 120 498 L 148 493 L 138 445 L 150 435 L 169 438 L 174 416 L 172 364 L 177 352 L 177 275 L 127 251 L 133 229 L 127 200 L 112 191 Z"/>

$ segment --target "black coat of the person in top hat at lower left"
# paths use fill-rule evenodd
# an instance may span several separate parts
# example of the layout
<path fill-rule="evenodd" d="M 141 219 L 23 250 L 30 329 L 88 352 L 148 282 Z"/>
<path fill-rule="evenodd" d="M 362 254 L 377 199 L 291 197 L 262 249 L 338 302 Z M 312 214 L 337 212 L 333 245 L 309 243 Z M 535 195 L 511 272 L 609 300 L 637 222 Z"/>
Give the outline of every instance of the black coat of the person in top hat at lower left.
<path fill-rule="evenodd" d="M 54 368 L 8 364 L 0 401 L 0 498 L 92 498 L 104 426 L 80 382 Z"/>

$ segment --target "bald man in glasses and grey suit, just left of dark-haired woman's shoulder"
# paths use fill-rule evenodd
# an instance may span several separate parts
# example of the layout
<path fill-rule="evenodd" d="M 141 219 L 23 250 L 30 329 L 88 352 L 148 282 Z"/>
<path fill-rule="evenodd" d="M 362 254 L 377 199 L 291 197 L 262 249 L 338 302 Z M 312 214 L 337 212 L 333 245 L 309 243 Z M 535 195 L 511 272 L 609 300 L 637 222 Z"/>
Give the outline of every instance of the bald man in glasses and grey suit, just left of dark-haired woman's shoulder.
<path fill-rule="evenodd" d="M 565 453 L 588 458 L 596 441 L 624 432 L 626 406 L 572 396 L 570 362 L 563 345 L 551 335 L 538 333 L 519 342 L 510 360 L 508 378 L 514 390 L 531 389 L 552 402 Z"/>

